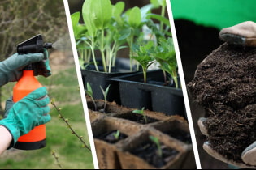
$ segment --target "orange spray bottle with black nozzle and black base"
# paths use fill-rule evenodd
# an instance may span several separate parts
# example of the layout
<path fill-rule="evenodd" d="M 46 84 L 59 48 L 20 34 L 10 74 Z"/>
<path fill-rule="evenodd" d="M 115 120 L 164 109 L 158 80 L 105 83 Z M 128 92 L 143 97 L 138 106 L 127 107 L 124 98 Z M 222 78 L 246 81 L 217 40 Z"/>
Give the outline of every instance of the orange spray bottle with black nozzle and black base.
<path fill-rule="evenodd" d="M 44 44 L 42 36 L 37 35 L 17 45 L 17 53 L 44 53 L 44 49 L 50 48 L 52 48 L 52 44 Z M 23 76 L 13 88 L 14 102 L 21 100 L 30 92 L 42 87 L 41 83 L 34 77 L 34 70 L 37 70 L 37 67 L 33 64 L 24 68 Z M 15 148 L 20 150 L 36 150 L 42 147 L 46 147 L 46 125 L 35 127 L 28 134 L 21 136 L 15 144 Z"/>

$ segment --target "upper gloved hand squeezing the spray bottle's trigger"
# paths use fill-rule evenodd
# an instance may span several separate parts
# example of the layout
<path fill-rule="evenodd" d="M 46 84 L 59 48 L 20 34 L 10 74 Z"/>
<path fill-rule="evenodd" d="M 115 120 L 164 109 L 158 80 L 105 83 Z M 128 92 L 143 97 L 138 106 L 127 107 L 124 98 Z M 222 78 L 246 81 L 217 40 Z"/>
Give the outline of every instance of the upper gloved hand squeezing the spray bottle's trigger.
<path fill-rule="evenodd" d="M 22 76 L 24 67 L 31 63 L 35 63 L 37 66 L 35 75 L 50 76 L 48 52 L 46 49 L 44 53 L 15 53 L 5 61 L 0 62 L 0 86 L 8 82 L 18 81 Z"/>

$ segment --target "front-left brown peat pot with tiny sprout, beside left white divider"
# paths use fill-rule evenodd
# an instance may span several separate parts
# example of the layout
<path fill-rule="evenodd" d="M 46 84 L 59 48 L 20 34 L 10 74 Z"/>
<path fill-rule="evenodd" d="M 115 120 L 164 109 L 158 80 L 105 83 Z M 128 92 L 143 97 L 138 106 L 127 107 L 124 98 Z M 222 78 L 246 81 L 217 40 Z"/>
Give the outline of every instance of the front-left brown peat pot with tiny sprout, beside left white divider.
<path fill-rule="evenodd" d="M 122 140 L 137 134 L 141 126 L 114 117 L 102 117 L 92 123 L 92 130 L 99 168 L 120 169 L 116 151 L 123 146 Z M 112 135 L 116 130 L 120 133 L 118 140 Z"/>

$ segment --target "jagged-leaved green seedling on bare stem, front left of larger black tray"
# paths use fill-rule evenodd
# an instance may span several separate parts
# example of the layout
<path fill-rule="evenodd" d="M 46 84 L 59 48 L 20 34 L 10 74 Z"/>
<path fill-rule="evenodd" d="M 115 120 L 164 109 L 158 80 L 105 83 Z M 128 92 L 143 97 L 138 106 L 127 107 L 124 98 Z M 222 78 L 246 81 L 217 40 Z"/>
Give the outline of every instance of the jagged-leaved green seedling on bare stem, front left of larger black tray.
<path fill-rule="evenodd" d="M 139 49 L 135 49 L 137 51 L 137 57 L 132 57 L 137 60 L 141 64 L 144 83 L 146 83 L 146 72 L 151 64 L 154 63 L 154 57 L 150 56 L 151 50 L 154 47 L 154 42 L 149 41 L 146 45 L 140 45 Z"/>

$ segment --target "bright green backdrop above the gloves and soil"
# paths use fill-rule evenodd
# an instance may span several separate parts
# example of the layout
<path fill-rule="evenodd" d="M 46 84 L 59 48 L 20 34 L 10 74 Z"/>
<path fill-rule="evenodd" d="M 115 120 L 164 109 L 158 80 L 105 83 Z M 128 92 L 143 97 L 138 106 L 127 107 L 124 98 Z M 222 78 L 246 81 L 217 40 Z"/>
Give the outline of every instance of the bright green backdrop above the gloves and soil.
<path fill-rule="evenodd" d="M 174 19 L 188 19 L 206 27 L 227 28 L 256 22 L 256 0 L 170 0 Z"/>

